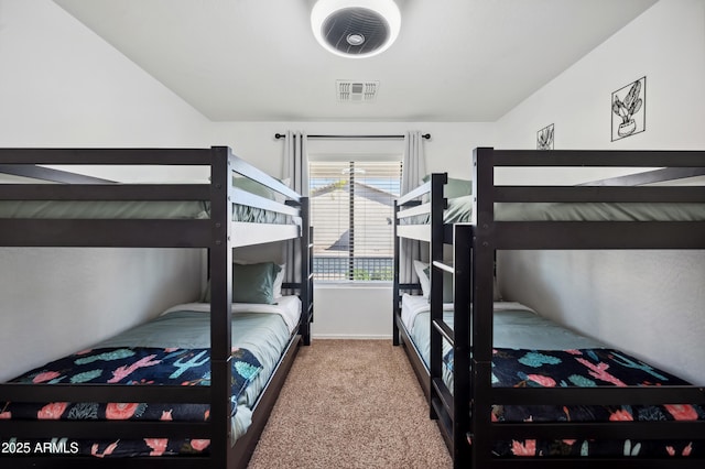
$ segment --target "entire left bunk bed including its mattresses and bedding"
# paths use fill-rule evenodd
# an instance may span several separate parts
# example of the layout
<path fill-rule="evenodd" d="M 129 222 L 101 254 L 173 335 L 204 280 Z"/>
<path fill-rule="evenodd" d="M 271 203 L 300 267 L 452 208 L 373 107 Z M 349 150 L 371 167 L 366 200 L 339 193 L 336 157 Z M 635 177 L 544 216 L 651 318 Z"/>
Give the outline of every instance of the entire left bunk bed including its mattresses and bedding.
<path fill-rule="evenodd" d="M 198 184 L 117 184 L 52 168 L 55 165 L 205 166 L 208 181 Z M 149 383 L 156 378 L 147 373 L 141 381 L 122 379 L 105 384 L 100 378 L 96 381 L 88 379 L 95 370 L 78 370 L 82 379 L 75 380 L 76 383 L 67 384 L 66 380 L 50 383 L 47 374 L 52 372 L 46 370 L 63 372 L 66 362 L 62 360 L 76 362 L 76 356 L 73 356 L 50 363 L 48 368 L 40 368 L 39 372 L 44 372 L 44 375 L 39 380 L 37 370 L 34 370 L 24 375 L 24 380 L 2 383 L 0 436 L 3 450 L 0 463 L 13 468 L 124 467 L 126 463 L 134 468 L 247 467 L 299 347 L 311 341 L 313 281 L 307 197 L 300 196 L 280 181 L 237 157 L 226 146 L 0 149 L 0 171 L 23 179 L 22 184 L 0 185 L 2 247 L 203 248 L 207 251 L 209 272 L 207 296 L 199 303 L 177 305 L 156 319 L 108 339 L 99 345 L 100 348 L 91 350 L 112 356 L 127 350 L 127 355 L 133 356 L 130 358 L 132 361 L 117 362 L 122 364 L 117 370 L 134 370 L 140 368 L 138 363 L 151 364 L 162 360 L 166 363 L 171 360 L 181 371 L 187 371 L 197 363 L 196 374 L 181 374 L 180 371 L 164 384 L 156 381 L 160 385 L 128 385 Z M 33 183 L 32 179 L 37 178 L 61 184 Z M 242 179 L 248 184 L 242 185 Z M 242 188 L 253 186 L 271 193 L 273 197 Z M 76 203 L 80 207 L 72 208 Z M 115 207 L 118 208 L 113 210 Z M 252 219 L 263 222 L 250 221 Z M 261 314 L 272 313 L 268 308 L 276 305 L 234 303 L 237 286 L 232 284 L 236 269 L 232 248 L 274 241 L 300 244 L 301 252 L 300 281 L 280 284 L 286 294 L 282 298 L 295 296 L 295 301 L 280 302 L 288 310 L 281 317 L 279 314 Z M 274 265 L 267 269 L 270 269 L 270 280 L 279 270 Z M 258 308 L 265 310 L 258 312 Z M 264 352 L 257 356 L 257 335 L 269 330 L 262 325 L 262 318 L 271 324 L 285 324 L 276 326 L 284 328 L 284 337 L 282 339 L 280 334 L 278 339 L 280 350 L 267 349 L 270 357 L 263 357 Z M 153 342 L 141 341 L 140 335 L 163 336 L 164 324 L 169 325 L 166 330 L 170 335 L 184 334 L 184 347 L 187 348 L 175 348 L 171 341 L 164 347 L 161 337 Z M 241 330 L 247 332 L 242 337 L 239 336 Z M 234 347 L 238 341 L 248 347 Z M 162 355 L 156 356 L 160 351 Z M 85 350 L 79 353 L 85 358 Z M 135 362 L 138 358 L 140 360 Z M 113 374 L 113 378 L 118 377 Z M 32 379 L 36 383 L 29 383 Z M 258 389 L 252 390 L 256 384 Z M 238 395 L 239 400 L 236 399 Z M 18 406 L 18 414 L 21 414 L 23 405 L 31 407 L 36 403 L 50 403 L 40 404 L 44 419 L 39 415 L 36 419 L 9 418 L 8 405 Z M 66 403 L 100 404 L 99 418 L 105 418 L 74 416 L 54 419 L 66 410 Z M 137 406 L 142 411 L 152 406 L 159 413 L 161 403 L 170 403 L 169 407 L 162 408 L 161 417 L 123 419 L 127 414 L 135 414 Z M 175 418 L 178 411 L 174 410 L 172 415 L 172 405 L 195 410 L 198 418 L 191 421 L 193 415 L 186 416 L 186 412 L 184 419 Z M 245 407 L 249 411 L 248 418 L 243 424 L 236 422 Z M 251 423 L 247 422 L 250 418 Z M 137 451 L 137 456 L 126 461 L 123 457 L 108 457 L 113 456 L 110 452 L 116 449 L 115 445 L 90 444 L 91 440 L 140 439 L 153 456 Z M 174 456 L 167 451 L 166 443 L 172 440 L 188 441 L 188 445 L 182 445 L 188 448 L 186 455 Z M 41 446 L 33 446 L 37 441 Z M 100 458 L 78 454 L 78 448 L 86 446 Z M 42 451 L 42 448 L 47 450 Z M 178 448 L 173 452 L 178 452 Z"/>

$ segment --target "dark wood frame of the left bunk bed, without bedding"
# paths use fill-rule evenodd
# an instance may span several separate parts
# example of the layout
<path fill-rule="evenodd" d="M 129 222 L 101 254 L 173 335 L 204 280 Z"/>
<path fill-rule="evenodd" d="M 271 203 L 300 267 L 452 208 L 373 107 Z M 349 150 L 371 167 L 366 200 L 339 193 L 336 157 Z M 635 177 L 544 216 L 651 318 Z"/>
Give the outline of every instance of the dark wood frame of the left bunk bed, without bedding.
<path fill-rule="evenodd" d="M 194 165 L 209 166 L 209 184 L 110 184 L 35 165 Z M 0 435 L 19 438 L 207 438 L 209 452 L 185 457 L 93 458 L 70 455 L 14 457 L 0 455 L 3 467 L 245 468 L 251 458 L 279 391 L 301 343 L 311 342 L 313 277 L 308 198 L 235 156 L 227 146 L 212 149 L 0 149 L 3 173 L 68 184 L 2 184 L 0 199 L 11 200 L 205 200 L 209 219 L 0 219 L 3 247 L 205 248 L 212 285 L 209 386 L 133 386 L 120 384 L 0 384 L 0 401 L 17 402 L 173 402 L 210 405 L 208 422 L 2 421 Z M 235 174 L 253 179 L 286 198 L 286 206 L 253 196 L 232 185 Z M 72 184 L 78 183 L 78 184 Z M 247 433 L 230 445 L 231 263 L 239 241 L 232 229 L 232 204 L 301 217 L 292 234 L 272 226 L 265 240 L 297 239 L 301 282 L 282 287 L 297 292 L 302 314 L 297 330 L 252 410 Z M 249 242 L 253 243 L 253 242 Z"/>

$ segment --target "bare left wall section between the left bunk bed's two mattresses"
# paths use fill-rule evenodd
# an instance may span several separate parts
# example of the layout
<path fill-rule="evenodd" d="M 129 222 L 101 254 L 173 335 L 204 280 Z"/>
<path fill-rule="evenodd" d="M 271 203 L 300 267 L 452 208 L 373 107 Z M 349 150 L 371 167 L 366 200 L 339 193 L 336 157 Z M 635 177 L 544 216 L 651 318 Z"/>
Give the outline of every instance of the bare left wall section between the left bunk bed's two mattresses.
<path fill-rule="evenodd" d="M 0 381 L 198 297 L 196 250 L 0 249 Z"/>

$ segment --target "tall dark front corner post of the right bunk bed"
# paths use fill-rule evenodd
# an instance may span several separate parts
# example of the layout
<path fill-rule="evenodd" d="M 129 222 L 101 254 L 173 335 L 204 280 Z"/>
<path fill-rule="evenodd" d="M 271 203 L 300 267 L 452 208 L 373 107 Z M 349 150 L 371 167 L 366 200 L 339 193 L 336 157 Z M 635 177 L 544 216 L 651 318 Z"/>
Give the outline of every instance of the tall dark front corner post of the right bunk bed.
<path fill-rule="evenodd" d="M 471 467 L 491 463 L 492 290 L 495 274 L 495 159 L 494 149 L 473 152 L 473 271 L 470 274 L 470 379 L 474 383 L 470 422 Z M 455 357 L 457 359 L 457 357 Z"/>

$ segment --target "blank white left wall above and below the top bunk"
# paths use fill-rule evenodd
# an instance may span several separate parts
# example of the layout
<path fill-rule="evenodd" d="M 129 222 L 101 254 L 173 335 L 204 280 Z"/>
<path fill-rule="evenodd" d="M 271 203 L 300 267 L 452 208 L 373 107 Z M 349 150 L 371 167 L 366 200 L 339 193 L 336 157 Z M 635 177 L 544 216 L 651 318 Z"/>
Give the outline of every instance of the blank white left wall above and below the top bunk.
<path fill-rule="evenodd" d="M 207 124 L 53 2 L 0 0 L 0 146 L 203 146 Z M 202 277 L 194 250 L 0 248 L 0 380 L 194 299 Z"/>

